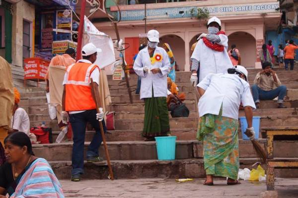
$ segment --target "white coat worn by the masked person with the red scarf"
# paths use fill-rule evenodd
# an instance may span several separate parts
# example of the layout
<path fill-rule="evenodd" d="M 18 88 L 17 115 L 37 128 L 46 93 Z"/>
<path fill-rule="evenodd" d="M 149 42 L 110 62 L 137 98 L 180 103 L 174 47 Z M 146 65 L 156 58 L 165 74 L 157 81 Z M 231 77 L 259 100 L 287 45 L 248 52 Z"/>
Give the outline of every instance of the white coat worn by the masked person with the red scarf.
<path fill-rule="evenodd" d="M 216 51 L 207 47 L 203 39 L 198 41 L 196 48 L 191 56 L 200 62 L 200 77 L 201 82 L 208 74 L 227 73 L 228 68 L 232 68 L 232 62 L 227 54 L 227 36 L 220 34 L 221 42 L 219 45 L 224 46 L 224 51 Z"/>

